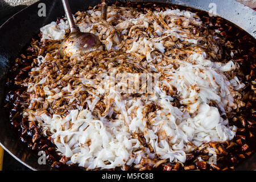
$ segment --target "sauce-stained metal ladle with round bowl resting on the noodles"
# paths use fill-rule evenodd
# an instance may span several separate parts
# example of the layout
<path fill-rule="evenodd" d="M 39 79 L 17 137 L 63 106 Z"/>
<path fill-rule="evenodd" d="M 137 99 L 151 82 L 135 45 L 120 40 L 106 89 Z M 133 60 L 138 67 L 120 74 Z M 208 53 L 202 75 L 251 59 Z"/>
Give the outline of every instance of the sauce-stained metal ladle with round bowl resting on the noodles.
<path fill-rule="evenodd" d="M 73 54 L 84 55 L 86 52 L 95 51 L 102 46 L 100 39 L 94 34 L 80 32 L 74 22 L 68 0 L 61 0 L 68 19 L 70 34 L 60 45 L 60 55 L 62 57 L 71 57 Z M 104 1 L 105 2 L 105 1 Z M 106 3 L 105 3 L 106 5 Z M 106 6 L 102 11 L 106 11 Z M 106 15 L 103 15 L 104 18 Z M 101 18 L 103 17 L 101 16 Z"/>

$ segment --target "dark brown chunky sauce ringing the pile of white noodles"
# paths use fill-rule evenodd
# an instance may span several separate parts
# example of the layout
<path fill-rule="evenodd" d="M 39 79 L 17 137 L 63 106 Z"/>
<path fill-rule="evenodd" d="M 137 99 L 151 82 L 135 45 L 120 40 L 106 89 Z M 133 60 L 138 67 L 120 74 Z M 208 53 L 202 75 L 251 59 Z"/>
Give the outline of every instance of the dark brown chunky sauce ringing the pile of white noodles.
<path fill-rule="evenodd" d="M 228 49 L 227 46 L 222 46 L 222 51 L 225 52 L 225 54 L 222 54 L 222 61 L 229 61 L 230 59 L 236 60 L 238 64 L 240 64 L 241 67 L 241 78 L 243 78 L 243 82 L 247 84 L 248 86 L 246 89 L 242 91 L 242 97 L 246 95 L 247 92 L 253 92 L 250 87 L 249 81 L 255 79 L 255 39 L 251 37 L 249 34 L 247 34 L 245 31 L 243 31 L 241 28 L 235 26 L 234 24 L 228 22 L 227 20 L 224 20 L 220 17 L 212 16 L 209 17 L 208 13 L 196 9 L 192 9 L 190 7 L 184 7 L 184 6 L 177 6 L 177 5 L 171 5 L 171 4 L 165 4 L 165 3 L 116 3 L 117 6 L 129 6 L 129 7 L 136 7 L 138 11 L 144 11 L 145 9 L 152 9 L 156 11 L 161 11 L 167 9 L 180 9 L 180 10 L 189 10 L 193 13 L 196 13 L 200 16 L 202 22 L 205 23 L 205 26 L 209 30 L 220 30 L 221 35 L 223 38 L 225 38 L 226 44 L 229 45 L 232 43 L 234 48 L 239 51 L 238 54 L 234 55 L 233 59 L 230 57 L 230 49 Z M 57 21 L 60 20 L 60 18 L 57 18 Z M 196 30 L 195 30 L 196 31 Z M 34 37 L 35 40 L 39 39 L 39 36 Z M 33 40 L 33 42 L 35 42 Z M 30 148 L 32 152 L 37 154 L 38 151 L 44 150 L 47 154 L 47 163 L 51 164 L 52 166 L 59 168 L 59 169 L 65 169 L 65 170 L 84 170 L 84 168 L 77 167 L 77 165 L 63 165 L 60 162 L 61 156 L 59 156 L 55 151 L 55 145 L 51 142 L 51 139 L 44 137 L 40 133 L 40 129 L 35 127 L 28 126 L 28 122 L 26 119 L 22 116 L 22 108 L 20 107 L 21 103 L 26 98 L 19 97 L 21 93 L 26 92 L 26 88 L 17 86 L 14 84 L 15 81 L 19 81 L 19 79 L 26 78 L 28 76 L 28 72 L 31 69 L 31 64 L 33 62 L 33 59 L 35 59 L 38 56 L 38 52 L 40 55 L 46 55 L 46 51 L 44 49 L 41 49 L 46 45 L 43 45 L 42 43 L 37 42 L 34 44 L 34 46 L 28 45 L 26 48 L 23 49 L 22 53 L 23 55 L 19 57 L 19 59 L 16 60 L 16 63 L 12 67 L 11 71 L 9 72 L 7 76 L 7 82 L 6 82 L 6 100 L 5 100 L 5 106 L 6 109 L 10 113 L 10 122 L 11 125 L 14 127 L 14 131 L 17 134 L 17 138 L 19 137 L 20 140 Z M 27 48 L 28 47 L 28 48 Z M 254 70 L 254 71 L 253 71 Z M 252 77 L 249 81 L 245 80 L 246 75 L 250 75 L 251 72 L 253 72 Z M 247 100 L 245 100 L 247 101 Z M 249 101 L 248 101 L 249 102 Z M 234 113 L 233 115 L 228 115 L 227 118 L 229 118 L 230 125 L 236 125 L 241 131 L 237 132 L 237 136 L 233 139 L 234 141 L 239 140 L 242 136 L 246 137 L 246 140 L 242 139 L 242 144 L 246 143 L 250 146 L 250 151 L 254 152 L 256 149 L 256 140 L 255 137 L 251 137 L 251 135 L 256 135 L 256 127 L 255 125 L 249 125 L 247 122 L 255 122 L 255 116 L 256 113 L 251 110 L 255 110 L 255 101 L 250 101 L 250 106 L 242 107 L 241 111 L 239 113 Z M 233 121 L 233 118 L 239 118 L 243 117 L 245 119 L 245 122 Z M 243 129 L 245 131 L 243 131 Z M 35 142 L 31 142 L 33 140 L 33 136 L 35 133 L 39 134 L 39 138 L 36 139 Z M 36 143 L 36 144 L 35 144 Z M 226 147 L 226 143 L 220 144 L 222 147 Z M 237 146 L 231 147 L 228 151 L 228 157 L 225 157 L 221 160 L 218 167 L 224 168 L 226 166 L 236 166 L 237 163 L 242 162 L 244 159 L 240 158 L 238 155 L 245 155 L 245 152 L 241 151 L 241 146 L 239 144 Z M 253 153 L 252 153 L 253 154 Z M 187 162 L 185 165 L 189 164 L 195 164 L 193 160 L 196 159 L 197 156 L 205 155 L 201 152 L 193 152 L 191 155 L 187 155 Z M 236 158 L 237 162 L 233 163 L 232 158 Z M 245 157 L 247 158 L 247 156 Z M 168 169 L 168 167 L 175 168 L 175 163 L 164 163 L 166 166 L 160 166 L 158 168 L 153 168 L 156 170 L 162 170 L 162 169 Z M 201 165 L 201 164 L 200 164 Z M 195 164 L 197 168 L 200 169 L 199 163 Z M 179 167 L 178 167 L 179 168 Z M 120 169 L 120 168 L 116 168 Z M 134 168 L 131 168 L 134 169 Z M 183 169 L 183 168 L 180 168 Z M 202 169 L 202 168 L 201 168 Z M 207 167 L 207 169 L 214 169 L 212 167 Z M 216 169 L 216 168 L 215 168 Z M 233 169 L 233 168 L 229 168 Z"/>

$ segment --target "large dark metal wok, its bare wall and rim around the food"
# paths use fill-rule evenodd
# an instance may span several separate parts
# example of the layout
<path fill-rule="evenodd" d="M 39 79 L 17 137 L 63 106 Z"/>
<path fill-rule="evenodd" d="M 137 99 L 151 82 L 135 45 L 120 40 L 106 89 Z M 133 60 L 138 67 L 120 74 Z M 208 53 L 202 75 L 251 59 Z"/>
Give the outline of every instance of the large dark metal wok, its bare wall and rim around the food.
<path fill-rule="evenodd" d="M 115 1 L 109 1 L 113 3 Z M 122 1 L 127 2 L 127 1 Z M 143 0 L 132 0 L 132 2 L 145 2 Z M 174 3 L 193 7 L 195 9 L 209 11 L 210 3 L 216 3 L 217 15 L 236 24 L 251 36 L 256 38 L 256 11 L 238 3 L 234 0 L 152 0 L 151 2 Z M 45 3 L 46 16 L 39 17 L 39 3 Z M 100 0 L 72 0 L 69 1 L 73 13 L 85 10 L 88 6 L 95 6 Z M 38 158 L 21 143 L 10 125 L 9 114 L 3 109 L 4 89 L 6 74 L 14 63 L 15 57 L 33 35 L 38 34 L 40 27 L 55 21 L 57 17 L 64 15 L 64 10 L 59 0 L 42 0 L 26 7 L 15 14 L 0 27 L 0 144 L 16 160 L 33 170 L 52 170 L 48 165 L 39 165 Z M 236 168 L 237 170 L 256 170 L 256 154 Z"/>

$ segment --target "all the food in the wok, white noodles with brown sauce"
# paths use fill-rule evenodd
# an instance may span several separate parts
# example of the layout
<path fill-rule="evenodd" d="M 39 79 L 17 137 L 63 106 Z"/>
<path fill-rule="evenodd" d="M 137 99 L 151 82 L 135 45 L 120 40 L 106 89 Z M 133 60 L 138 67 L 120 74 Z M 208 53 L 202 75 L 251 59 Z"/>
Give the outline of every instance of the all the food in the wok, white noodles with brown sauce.
<path fill-rule="evenodd" d="M 86 169 L 234 169 L 251 155 L 253 39 L 171 5 L 100 17 L 100 6 L 74 16 L 97 50 L 62 57 L 69 26 L 58 18 L 16 59 L 6 107 L 28 147 Z"/>

